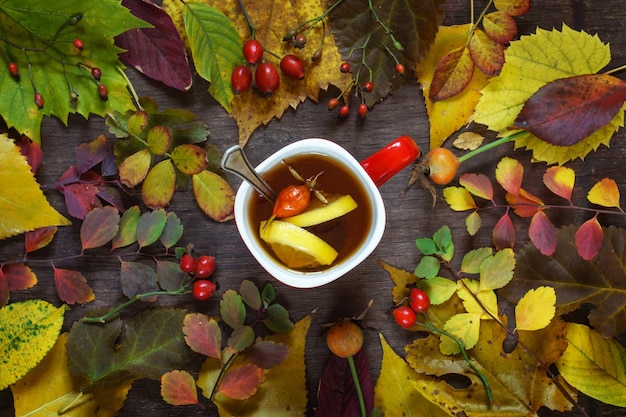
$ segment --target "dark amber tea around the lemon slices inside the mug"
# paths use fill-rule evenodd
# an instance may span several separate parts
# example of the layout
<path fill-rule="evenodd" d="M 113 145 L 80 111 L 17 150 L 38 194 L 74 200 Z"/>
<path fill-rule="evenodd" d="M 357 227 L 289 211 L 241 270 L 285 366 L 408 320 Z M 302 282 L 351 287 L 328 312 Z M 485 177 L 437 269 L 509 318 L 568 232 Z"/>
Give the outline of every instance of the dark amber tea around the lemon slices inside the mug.
<path fill-rule="evenodd" d="M 304 154 L 285 159 L 302 178 L 311 178 L 324 172 L 317 178 L 316 189 L 323 194 L 349 194 L 356 201 L 358 207 L 350 213 L 328 222 L 307 227 L 306 230 L 326 241 L 339 253 L 332 265 L 321 267 L 323 270 L 332 267 L 343 259 L 352 255 L 366 239 L 372 225 L 372 207 L 367 191 L 350 169 L 335 159 L 320 154 Z M 291 184 L 299 184 L 291 175 L 285 164 L 278 164 L 272 170 L 263 174 L 263 179 L 276 193 Z M 311 195 L 311 198 L 315 198 Z M 261 221 L 272 215 L 272 204 L 265 198 L 256 195 L 252 198 L 248 210 L 248 218 L 252 222 L 252 229 L 259 230 Z M 261 240 L 268 254 L 273 256 L 272 250 Z M 280 261 L 279 261 L 280 262 Z M 307 270 L 311 271 L 311 270 Z"/>

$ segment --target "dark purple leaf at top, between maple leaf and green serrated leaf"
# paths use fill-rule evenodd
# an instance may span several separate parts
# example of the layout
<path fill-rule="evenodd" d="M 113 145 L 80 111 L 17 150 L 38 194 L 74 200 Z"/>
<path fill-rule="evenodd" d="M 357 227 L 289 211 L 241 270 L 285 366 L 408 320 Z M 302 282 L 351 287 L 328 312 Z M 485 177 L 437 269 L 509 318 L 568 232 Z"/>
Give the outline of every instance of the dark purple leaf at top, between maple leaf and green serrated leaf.
<path fill-rule="evenodd" d="M 157 5 L 141 0 L 123 0 L 122 5 L 154 27 L 117 36 L 116 45 L 127 50 L 120 60 L 169 87 L 187 91 L 192 83 L 187 52 L 170 16 Z"/>

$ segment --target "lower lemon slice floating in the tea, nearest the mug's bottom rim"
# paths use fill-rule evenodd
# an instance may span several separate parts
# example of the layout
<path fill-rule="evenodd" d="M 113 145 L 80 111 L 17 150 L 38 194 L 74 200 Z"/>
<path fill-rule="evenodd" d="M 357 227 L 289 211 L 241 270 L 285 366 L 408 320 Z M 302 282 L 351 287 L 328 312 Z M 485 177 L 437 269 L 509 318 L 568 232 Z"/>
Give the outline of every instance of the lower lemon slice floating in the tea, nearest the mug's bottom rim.
<path fill-rule="evenodd" d="M 313 233 L 280 220 L 262 221 L 263 239 L 285 265 L 293 269 L 311 269 L 330 265 L 337 251 Z"/>

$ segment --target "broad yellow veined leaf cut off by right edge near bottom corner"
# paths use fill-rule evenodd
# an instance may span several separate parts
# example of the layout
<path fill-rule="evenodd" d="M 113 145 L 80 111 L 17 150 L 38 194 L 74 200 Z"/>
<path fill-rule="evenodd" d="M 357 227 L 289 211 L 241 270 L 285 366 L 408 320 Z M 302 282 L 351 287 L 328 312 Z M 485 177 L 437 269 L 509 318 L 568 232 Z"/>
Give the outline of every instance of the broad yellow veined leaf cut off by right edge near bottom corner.
<path fill-rule="evenodd" d="M 626 349 L 576 323 L 567 324 L 567 343 L 556 362 L 563 378 L 592 398 L 626 407 Z"/>

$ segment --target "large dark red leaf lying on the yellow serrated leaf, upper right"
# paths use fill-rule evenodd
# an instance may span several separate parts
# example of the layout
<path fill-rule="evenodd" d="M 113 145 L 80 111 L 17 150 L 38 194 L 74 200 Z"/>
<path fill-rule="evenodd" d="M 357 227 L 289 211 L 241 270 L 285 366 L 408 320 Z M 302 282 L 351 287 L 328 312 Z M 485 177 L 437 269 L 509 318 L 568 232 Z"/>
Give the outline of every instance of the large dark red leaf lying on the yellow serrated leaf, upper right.
<path fill-rule="evenodd" d="M 515 127 L 557 146 L 571 146 L 609 123 L 624 105 L 626 82 L 606 74 L 561 78 L 541 87 Z"/>

